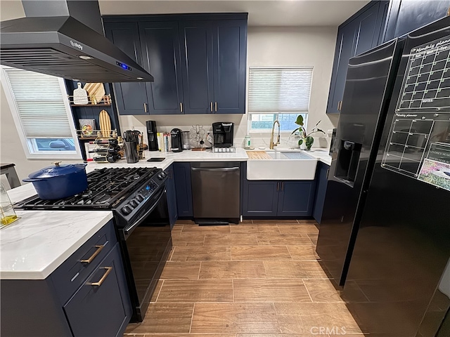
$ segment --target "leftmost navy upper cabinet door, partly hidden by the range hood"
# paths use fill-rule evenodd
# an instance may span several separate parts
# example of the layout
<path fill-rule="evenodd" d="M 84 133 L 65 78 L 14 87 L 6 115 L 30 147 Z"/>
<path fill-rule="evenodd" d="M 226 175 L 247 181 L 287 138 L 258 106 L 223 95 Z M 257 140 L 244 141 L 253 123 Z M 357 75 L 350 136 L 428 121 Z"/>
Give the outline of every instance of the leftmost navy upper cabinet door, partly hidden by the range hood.
<path fill-rule="evenodd" d="M 142 64 L 139 27 L 136 22 L 105 22 L 105 35 L 130 58 Z M 114 84 L 115 100 L 120 114 L 148 114 L 146 83 Z"/>

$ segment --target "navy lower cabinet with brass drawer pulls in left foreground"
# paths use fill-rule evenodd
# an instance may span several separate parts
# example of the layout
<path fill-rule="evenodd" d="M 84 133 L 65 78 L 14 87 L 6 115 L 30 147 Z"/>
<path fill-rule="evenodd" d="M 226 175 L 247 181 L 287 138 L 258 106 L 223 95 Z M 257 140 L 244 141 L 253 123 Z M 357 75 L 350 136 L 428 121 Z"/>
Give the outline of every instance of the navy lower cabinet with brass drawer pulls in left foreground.
<path fill-rule="evenodd" d="M 1 279 L 0 335 L 122 336 L 132 308 L 113 226 L 110 220 L 46 279 Z"/>

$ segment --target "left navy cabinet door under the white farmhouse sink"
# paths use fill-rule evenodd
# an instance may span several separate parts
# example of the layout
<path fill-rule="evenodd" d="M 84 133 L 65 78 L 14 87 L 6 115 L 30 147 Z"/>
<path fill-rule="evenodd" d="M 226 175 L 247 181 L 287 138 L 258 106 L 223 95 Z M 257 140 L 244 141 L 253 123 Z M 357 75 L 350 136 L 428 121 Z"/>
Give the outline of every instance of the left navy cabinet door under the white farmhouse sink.
<path fill-rule="evenodd" d="M 244 180 L 243 216 L 276 216 L 277 184 L 271 180 Z"/>

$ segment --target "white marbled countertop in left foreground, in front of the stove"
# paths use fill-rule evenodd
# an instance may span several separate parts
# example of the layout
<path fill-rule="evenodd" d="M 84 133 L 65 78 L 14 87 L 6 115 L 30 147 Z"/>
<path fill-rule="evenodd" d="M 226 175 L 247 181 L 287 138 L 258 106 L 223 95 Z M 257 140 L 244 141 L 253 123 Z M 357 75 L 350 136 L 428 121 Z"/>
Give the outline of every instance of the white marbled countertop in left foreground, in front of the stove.
<path fill-rule="evenodd" d="M 17 211 L 17 215 L 19 220 L 0 230 L 0 279 L 46 279 L 113 218 L 111 211 Z"/>

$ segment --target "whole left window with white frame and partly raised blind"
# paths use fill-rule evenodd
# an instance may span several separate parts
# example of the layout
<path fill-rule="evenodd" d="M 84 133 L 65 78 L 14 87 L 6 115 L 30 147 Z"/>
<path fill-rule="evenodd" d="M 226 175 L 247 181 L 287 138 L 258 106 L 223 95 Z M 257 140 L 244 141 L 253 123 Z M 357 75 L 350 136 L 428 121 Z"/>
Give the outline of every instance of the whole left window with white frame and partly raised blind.
<path fill-rule="evenodd" d="M 28 158 L 80 158 L 63 79 L 2 67 L 2 84 Z"/>

